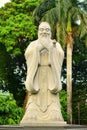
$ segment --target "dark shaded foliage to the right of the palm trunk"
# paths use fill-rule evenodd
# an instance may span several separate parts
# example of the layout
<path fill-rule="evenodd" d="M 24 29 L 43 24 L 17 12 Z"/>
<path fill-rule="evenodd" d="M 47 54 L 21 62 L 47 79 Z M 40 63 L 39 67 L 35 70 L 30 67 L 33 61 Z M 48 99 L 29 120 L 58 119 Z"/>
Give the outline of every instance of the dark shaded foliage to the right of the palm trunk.
<path fill-rule="evenodd" d="M 73 121 L 87 124 L 87 47 L 76 39 L 73 49 Z"/>

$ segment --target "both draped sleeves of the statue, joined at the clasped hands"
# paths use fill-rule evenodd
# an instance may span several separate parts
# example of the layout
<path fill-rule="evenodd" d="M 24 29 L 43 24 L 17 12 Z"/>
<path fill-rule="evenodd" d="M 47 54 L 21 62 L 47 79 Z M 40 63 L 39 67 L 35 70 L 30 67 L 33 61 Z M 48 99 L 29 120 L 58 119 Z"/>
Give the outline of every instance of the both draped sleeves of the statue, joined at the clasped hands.
<path fill-rule="evenodd" d="M 47 49 L 49 55 L 49 65 L 52 70 L 54 84 L 53 86 L 49 86 L 49 90 L 54 93 L 60 91 L 62 89 L 61 86 L 61 67 L 64 59 L 64 52 L 59 43 L 56 43 L 56 46 L 53 45 L 51 40 L 51 45 L 49 48 L 44 48 L 38 40 L 32 42 L 25 52 L 25 59 L 27 64 L 27 78 L 25 81 L 25 85 L 30 93 L 37 93 L 40 90 L 40 86 L 38 82 L 35 83 L 35 76 L 38 71 L 38 66 L 40 65 L 40 51 L 43 49 Z"/>

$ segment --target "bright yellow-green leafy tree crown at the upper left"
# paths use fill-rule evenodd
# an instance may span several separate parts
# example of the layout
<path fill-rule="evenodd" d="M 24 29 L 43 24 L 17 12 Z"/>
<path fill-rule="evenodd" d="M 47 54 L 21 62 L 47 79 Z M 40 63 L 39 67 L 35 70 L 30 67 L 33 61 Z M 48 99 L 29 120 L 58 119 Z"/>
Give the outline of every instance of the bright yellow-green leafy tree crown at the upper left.
<path fill-rule="evenodd" d="M 15 0 L 0 8 L 0 43 L 11 54 L 22 53 L 19 44 L 22 44 L 23 39 L 30 41 L 36 38 L 37 27 L 34 25 L 32 13 L 40 1 Z"/>

